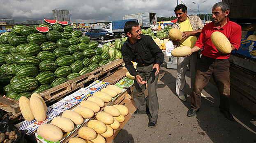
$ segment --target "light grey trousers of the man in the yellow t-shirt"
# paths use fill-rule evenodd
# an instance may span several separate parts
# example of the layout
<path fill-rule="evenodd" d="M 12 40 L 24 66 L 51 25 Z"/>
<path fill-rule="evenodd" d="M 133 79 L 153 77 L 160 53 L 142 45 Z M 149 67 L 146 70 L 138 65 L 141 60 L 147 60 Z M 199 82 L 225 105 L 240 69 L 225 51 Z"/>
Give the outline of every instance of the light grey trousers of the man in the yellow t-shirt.
<path fill-rule="evenodd" d="M 177 96 L 186 95 L 185 93 L 185 85 L 186 85 L 186 79 L 185 74 L 188 69 L 189 65 L 189 71 L 190 71 L 190 87 L 191 91 L 193 89 L 193 85 L 195 82 L 196 77 L 196 67 L 199 62 L 199 53 L 194 52 L 188 57 L 179 57 L 177 61 L 177 80 L 176 80 L 176 94 Z"/>

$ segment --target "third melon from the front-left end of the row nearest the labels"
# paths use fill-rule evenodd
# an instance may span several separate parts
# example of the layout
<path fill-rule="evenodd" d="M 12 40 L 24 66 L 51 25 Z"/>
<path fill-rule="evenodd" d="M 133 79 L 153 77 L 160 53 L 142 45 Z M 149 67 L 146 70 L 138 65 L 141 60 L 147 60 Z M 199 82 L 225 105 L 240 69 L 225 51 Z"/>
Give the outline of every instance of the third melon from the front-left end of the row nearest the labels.
<path fill-rule="evenodd" d="M 62 117 L 69 118 L 76 125 L 81 125 L 83 123 L 83 117 L 71 110 L 66 110 L 62 113 Z"/>

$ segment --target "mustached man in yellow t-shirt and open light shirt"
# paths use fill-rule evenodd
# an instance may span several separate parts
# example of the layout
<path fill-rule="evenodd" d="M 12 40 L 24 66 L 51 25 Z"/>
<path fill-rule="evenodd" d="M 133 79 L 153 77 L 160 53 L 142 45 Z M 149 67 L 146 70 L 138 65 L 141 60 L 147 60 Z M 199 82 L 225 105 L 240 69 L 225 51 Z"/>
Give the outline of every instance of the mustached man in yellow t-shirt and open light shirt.
<path fill-rule="evenodd" d="M 183 34 L 181 40 L 173 40 L 174 48 L 180 46 L 194 47 L 198 36 L 203 29 L 203 23 L 198 16 L 187 16 L 187 7 L 184 4 L 179 4 L 174 9 L 175 15 L 178 18 L 177 22 L 171 27 L 180 29 Z M 176 94 L 182 101 L 187 101 L 185 93 L 186 79 L 185 74 L 188 66 L 190 71 L 190 86 L 193 89 L 196 67 L 199 62 L 199 52 L 193 53 L 188 57 L 179 57 L 177 62 L 177 80 Z"/>

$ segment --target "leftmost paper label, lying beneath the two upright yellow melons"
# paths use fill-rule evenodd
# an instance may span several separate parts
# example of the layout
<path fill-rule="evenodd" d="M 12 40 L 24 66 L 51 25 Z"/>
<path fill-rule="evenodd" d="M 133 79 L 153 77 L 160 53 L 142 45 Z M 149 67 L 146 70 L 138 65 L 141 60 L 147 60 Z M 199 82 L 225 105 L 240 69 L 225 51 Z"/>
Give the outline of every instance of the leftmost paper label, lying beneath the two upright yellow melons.
<path fill-rule="evenodd" d="M 37 128 L 44 124 L 44 123 L 48 123 L 49 121 L 51 121 L 55 116 L 58 116 L 60 113 L 60 111 L 57 110 L 53 110 L 50 107 L 47 107 L 47 112 L 46 112 L 46 119 L 42 122 L 38 122 L 37 120 L 33 120 L 33 121 L 22 121 L 21 123 L 18 123 L 16 125 L 14 125 L 15 127 L 17 127 L 19 130 L 28 130 L 28 132 L 26 134 L 30 135 L 33 132 L 35 132 L 35 130 L 37 130 Z"/>

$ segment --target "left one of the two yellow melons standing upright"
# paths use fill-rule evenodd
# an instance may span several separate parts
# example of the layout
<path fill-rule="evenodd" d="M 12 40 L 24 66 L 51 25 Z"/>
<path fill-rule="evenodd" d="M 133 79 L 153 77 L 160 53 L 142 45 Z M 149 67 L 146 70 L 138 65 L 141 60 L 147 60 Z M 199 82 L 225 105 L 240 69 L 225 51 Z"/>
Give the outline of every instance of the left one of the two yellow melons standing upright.
<path fill-rule="evenodd" d="M 18 100 L 18 105 L 21 109 L 21 114 L 27 121 L 33 121 L 35 119 L 30 106 L 29 106 L 29 100 L 25 96 L 21 96 L 21 98 Z"/>

